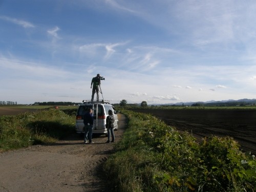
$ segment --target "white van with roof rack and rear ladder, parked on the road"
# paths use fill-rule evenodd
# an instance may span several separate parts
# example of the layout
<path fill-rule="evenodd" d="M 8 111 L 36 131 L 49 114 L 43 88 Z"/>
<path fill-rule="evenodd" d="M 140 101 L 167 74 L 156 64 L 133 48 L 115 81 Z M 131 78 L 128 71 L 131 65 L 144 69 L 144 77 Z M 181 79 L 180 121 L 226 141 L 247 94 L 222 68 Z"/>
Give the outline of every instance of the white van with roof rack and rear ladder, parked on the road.
<path fill-rule="evenodd" d="M 105 128 L 106 117 L 108 117 L 109 110 L 113 111 L 114 115 L 114 130 L 118 130 L 118 117 L 115 111 L 115 108 L 110 101 L 101 100 L 101 101 L 91 101 L 91 100 L 83 100 L 79 105 L 79 108 L 76 113 L 76 132 L 84 133 L 83 127 L 83 116 L 87 113 L 88 109 L 91 108 L 93 110 L 93 134 L 105 134 L 108 135 L 108 132 Z"/>

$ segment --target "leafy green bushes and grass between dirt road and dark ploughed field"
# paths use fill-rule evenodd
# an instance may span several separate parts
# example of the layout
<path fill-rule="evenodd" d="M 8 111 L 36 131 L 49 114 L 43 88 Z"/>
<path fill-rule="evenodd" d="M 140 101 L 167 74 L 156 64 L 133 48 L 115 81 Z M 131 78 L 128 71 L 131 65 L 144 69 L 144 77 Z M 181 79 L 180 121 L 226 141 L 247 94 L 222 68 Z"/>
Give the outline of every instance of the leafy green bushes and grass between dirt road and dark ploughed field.
<path fill-rule="evenodd" d="M 255 191 L 256 161 L 230 137 L 198 143 L 149 114 L 129 119 L 103 166 L 113 191 Z"/>

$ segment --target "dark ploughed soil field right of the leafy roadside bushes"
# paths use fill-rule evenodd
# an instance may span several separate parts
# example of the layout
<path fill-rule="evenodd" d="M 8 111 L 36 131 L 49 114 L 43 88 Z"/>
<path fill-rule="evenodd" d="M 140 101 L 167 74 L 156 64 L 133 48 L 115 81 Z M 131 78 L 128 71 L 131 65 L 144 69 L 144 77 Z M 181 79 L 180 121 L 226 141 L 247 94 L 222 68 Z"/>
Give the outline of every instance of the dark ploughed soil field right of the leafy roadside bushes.
<path fill-rule="evenodd" d="M 256 154 L 256 110 L 133 110 L 150 113 L 179 131 L 187 131 L 198 140 L 230 136 L 238 141 L 244 152 Z"/>

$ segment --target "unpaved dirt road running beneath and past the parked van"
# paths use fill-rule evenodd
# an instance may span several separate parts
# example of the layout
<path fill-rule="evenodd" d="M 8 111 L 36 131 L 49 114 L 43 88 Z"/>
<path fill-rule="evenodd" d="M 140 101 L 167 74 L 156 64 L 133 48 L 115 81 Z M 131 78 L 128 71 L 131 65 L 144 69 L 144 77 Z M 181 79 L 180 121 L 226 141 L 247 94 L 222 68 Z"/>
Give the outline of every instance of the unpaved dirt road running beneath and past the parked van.
<path fill-rule="evenodd" d="M 118 142 L 126 119 L 118 114 Z M 102 165 L 114 152 L 115 143 L 105 143 L 104 135 L 84 144 L 80 135 L 52 145 L 35 145 L 0 153 L 0 191 L 111 191 L 102 174 Z"/>

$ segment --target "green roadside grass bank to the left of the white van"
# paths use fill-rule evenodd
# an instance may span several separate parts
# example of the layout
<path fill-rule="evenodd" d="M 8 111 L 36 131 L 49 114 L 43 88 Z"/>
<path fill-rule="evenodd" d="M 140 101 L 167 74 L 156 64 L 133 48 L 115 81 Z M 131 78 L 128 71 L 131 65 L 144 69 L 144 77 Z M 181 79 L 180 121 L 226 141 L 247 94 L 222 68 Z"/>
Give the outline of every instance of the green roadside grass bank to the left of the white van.
<path fill-rule="evenodd" d="M 73 112 L 71 112 L 73 110 Z M 0 116 L 0 151 L 56 142 L 75 133 L 75 109 L 69 114 L 56 109 L 15 116 Z"/>

